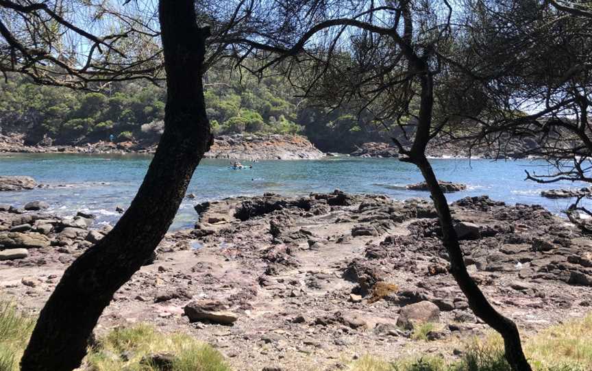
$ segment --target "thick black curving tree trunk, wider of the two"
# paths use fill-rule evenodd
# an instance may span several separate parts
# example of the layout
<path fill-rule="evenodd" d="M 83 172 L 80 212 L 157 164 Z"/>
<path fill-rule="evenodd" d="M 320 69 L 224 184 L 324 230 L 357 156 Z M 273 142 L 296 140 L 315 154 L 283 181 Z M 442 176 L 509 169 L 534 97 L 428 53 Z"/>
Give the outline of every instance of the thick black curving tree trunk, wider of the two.
<path fill-rule="evenodd" d="M 161 0 L 159 12 L 168 97 L 158 149 L 127 212 L 64 272 L 40 313 L 21 360 L 23 371 L 70 371 L 80 365 L 103 309 L 167 233 L 211 144 L 201 82 L 209 29 L 197 26 L 193 0 Z"/>

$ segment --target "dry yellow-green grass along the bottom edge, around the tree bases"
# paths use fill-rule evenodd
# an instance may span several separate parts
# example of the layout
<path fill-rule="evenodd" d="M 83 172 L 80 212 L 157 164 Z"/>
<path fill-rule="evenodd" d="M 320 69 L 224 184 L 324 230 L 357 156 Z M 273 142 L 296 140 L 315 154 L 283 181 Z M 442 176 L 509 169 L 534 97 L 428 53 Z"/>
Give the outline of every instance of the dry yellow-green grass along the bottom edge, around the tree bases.
<path fill-rule="evenodd" d="M 33 329 L 34 321 L 18 313 L 10 303 L 0 302 L 0 371 L 18 370 L 18 360 Z M 418 338 L 416 341 L 425 341 Z M 592 314 L 559 324 L 530 337 L 526 355 L 536 371 L 592 370 Z M 221 353 L 183 333 L 160 333 L 147 324 L 113 329 L 99 338 L 85 359 L 86 370 L 161 370 L 150 355 L 171 356 L 174 371 L 231 371 Z M 466 344 L 459 360 L 415 357 L 385 361 L 365 355 L 349 364 L 350 371 L 509 371 L 503 342 L 498 335 Z"/>

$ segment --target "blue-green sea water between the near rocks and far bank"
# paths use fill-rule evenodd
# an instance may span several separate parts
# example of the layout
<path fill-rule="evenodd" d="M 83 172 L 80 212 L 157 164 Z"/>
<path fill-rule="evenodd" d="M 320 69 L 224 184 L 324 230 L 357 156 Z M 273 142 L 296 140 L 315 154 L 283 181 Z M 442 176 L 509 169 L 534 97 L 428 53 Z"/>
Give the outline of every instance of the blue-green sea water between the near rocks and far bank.
<path fill-rule="evenodd" d="M 1 192 L 0 203 L 22 206 L 44 200 L 51 212 L 71 215 L 77 211 L 97 214 L 99 222 L 114 223 L 117 205 L 127 207 L 138 189 L 151 157 L 147 155 L 0 155 L 0 175 L 29 175 L 49 185 L 25 192 Z M 225 160 L 201 162 L 173 229 L 193 225 L 197 214 L 193 205 L 228 196 L 308 194 L 330 192 L 336 188 L 354 193 L 387 194 L 393 199 L 428 197 L 428 192 L 406 190 L 404 186 L 423 180 L 412 164 L 397 159 L 330 157 L 322 160 L 261 161 L 249 170 L 227 168 Z M 546 174 L 552 169 L 541 160 L 491 161 L 489 159 L 433 159 L 439 179 L 468 185 L 468 190 L 449 194 L 449 201 L 465 196 L 488 194 L 506 203 L 530 203 L 560 213 L 569 200 L 550 200 L 539 196 L 541 190 L 575 188 L 584 185 L 555 183 L 544 185 L 525 181 L 524 170 Z"/>

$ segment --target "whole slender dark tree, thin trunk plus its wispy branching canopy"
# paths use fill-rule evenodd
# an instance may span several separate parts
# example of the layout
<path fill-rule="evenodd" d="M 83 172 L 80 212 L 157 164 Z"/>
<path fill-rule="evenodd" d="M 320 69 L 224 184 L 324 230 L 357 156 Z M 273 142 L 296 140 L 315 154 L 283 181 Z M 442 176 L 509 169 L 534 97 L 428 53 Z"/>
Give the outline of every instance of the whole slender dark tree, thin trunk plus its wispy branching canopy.
<path fill-rule="evenodd" d="M 467 32 L 447 0 L 280 1 L 290 13 L 290 38 L 277 34 L 234 40 L 237 50 L 261 61 L 254 73 L 283 68 L 310 99 L 356 105 L 393 135 L 399 159 L 415 164 L 432 196 L 442 227 L 449 272 L 473 312 L 504 338 L 513 370 L 530 370 L 515 323 L 499 313 L 467 272 L 447 199 L 425 155 L 430 142 L 452 136 L 486 107 L 482 82 L 471 71 L 481 60 L 466 48 Z M 297 3 L 297 4 L 295 4 Z M 239 58 L 240 60 L 240 58 Z"/>

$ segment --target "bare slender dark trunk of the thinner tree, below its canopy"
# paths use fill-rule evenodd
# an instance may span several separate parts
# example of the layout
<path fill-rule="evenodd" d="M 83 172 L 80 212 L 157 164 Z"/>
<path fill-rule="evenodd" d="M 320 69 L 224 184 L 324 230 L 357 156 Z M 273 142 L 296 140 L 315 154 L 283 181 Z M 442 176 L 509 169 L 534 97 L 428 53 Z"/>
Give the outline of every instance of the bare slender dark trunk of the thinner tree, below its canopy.
<path fill-rule="evenodd" d="M 427 70 L 427 66 L 423 66 Z M 514 371 L 531 371 L 530 365 L 524 356 L 520 342 L 520 334 L 516 324 L 502 316 L 495 308 L 491 306 L 479 286 L 467 272 L 465 259 L 462 255 L 462 249 L 458 242 L 458 236 L 452 222 L 452 214 L 444 192 L 434 170 L 425 157 L 425 147 L 430 140 L 430 128 L 432 126 L 432 107 L 433 97 L 433 77 L 429 72 L 421 75 L 421 102 L 419 109 L 419 122 L 417 124 L 417 133 L 412 148 L 408 151 L 408 157 L 402 157 L 403 161 L 415 164 L 421 171 L 425 183 L 430 188 L 430 194 L 438 218 L 442 227 L 442 243 L 448 253 L 450 262 L 450 273 L 454 277 L 458 287 L 465 294 L 469 301 L 469 307 L 473 313 L 491 326 L 504 338 L 504 350 L 506 360 Z"/>

